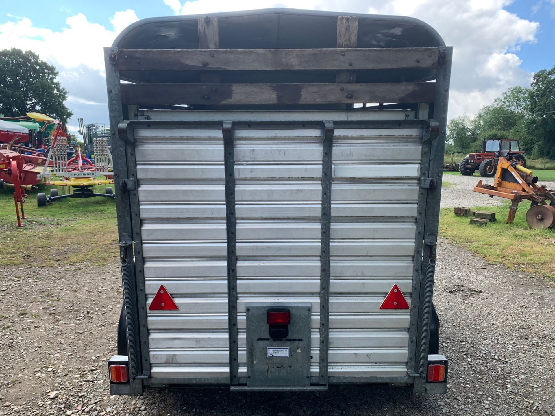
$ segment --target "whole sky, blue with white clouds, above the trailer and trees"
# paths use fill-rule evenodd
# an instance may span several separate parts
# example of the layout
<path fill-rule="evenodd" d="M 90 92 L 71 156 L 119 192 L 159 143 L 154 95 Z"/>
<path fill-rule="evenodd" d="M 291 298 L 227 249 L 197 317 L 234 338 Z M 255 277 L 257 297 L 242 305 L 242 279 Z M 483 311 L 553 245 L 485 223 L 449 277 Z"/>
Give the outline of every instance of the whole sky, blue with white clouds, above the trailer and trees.
<path fill-rule="evenodd" d="M 102 47 L 128 24 L 156 16 L 295 7 L 420 18 L 455 48 L 450 118 L 476 113 L 555 64 L 555 0 L 0 0 L 0 6 L 0 47 L 31 49 L 56 65 L 72 128 L 78 117 L 108 121 Z"/>

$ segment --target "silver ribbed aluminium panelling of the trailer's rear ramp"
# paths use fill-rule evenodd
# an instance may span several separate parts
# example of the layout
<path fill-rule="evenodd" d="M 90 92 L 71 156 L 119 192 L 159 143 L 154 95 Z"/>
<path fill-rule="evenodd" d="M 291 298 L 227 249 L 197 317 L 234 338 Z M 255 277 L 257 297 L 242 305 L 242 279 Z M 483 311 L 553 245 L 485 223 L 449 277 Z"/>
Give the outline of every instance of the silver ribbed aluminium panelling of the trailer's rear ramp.
<path fill-rule="evenodd" d="M 218 116 L 148 111 L 153 120 L 195 120 L 194 113 L 198 120 Z M 230 113 L 221 120 L 261 117 Z M 295 116 L 263 113 L 271 120 Z M 321 120 L 349 118 L 324 113 Z M 356 119 L 364 120 L 361 114 Z M 367 114 L 407 118 L 405 111 Z M 415 128 L 334 131 L 330 377 L 406 375 L 409 312 L 379 306 L 394 284 L 410 303 L 421 139 Z M 152 376 L 228 377 L 221 130 L 135 130 L 135 141 L 148 302 L 164 285 L 179 306 L 148 314 Z M 240 376 L 245 303 L 274 301 L 312 303 L 317 376 L 322 130 L 254 126 L 235 130 L 234 141 Z"/>

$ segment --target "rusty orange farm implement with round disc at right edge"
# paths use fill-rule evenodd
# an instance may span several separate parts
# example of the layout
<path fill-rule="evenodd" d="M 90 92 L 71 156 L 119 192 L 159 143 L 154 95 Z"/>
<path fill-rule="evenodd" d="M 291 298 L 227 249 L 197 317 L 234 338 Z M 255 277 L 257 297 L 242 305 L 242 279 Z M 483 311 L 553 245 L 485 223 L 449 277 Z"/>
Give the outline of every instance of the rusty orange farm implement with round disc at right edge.
<path fill-rule="evenodd" d="M 507 156 L 499 158 L 493 185 L 485 185 L 480 180 L 474 191 L 511 200 L 507 222 L 513 222 L 518 204 L 529 200 L 531 206 L 526 212 L 528 225 L 535 229 L 549 228 L 555 225 L 555 190 L 548 190 L 545 185 L 538 186 L 537 182 L 538 177 L 524 168 L 519 159 Z"/>

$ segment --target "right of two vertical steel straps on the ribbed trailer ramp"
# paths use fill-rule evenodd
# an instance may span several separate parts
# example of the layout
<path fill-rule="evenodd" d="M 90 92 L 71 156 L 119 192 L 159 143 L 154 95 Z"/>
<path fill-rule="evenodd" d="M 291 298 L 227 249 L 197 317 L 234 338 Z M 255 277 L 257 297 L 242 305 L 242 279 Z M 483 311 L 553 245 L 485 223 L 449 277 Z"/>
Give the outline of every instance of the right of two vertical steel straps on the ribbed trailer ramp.
<path fill-rule="evenodd" d="M 322 216 L 320 249 L 320 377 L 319 384 L 327 385 L 327 363 L 330 321 L 330 233 L 331 233 L 331 176 L 334 123 L 324 121 L 322 143 Z"/>

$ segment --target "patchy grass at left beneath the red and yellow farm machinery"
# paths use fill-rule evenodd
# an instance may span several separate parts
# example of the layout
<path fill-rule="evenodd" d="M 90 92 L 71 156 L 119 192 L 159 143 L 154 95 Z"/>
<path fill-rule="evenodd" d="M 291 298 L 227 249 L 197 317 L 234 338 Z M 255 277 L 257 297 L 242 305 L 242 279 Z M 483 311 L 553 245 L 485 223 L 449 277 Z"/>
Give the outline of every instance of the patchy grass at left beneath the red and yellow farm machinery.
<path fill-rule="evenodd" d="M 38 192 L 48 194 L 52 187 L 41 185 Z M 104 192 L 104 188 L 95 186 L 95 191 Z M 27 218 L 22 220 L 23 227 L 17 227 L 12 193 L 9 189 L 0 190 L 0 232 L 3 240 L 0 266 L 52 266 L 82 262 L 103 265 L 117 258 L 118 233 L 113 199 L 69 198 L 38 207 L 38 192 L 32 192 L 25 202 Z M 64 192 L 58 187 L 59 195 Z"/>

